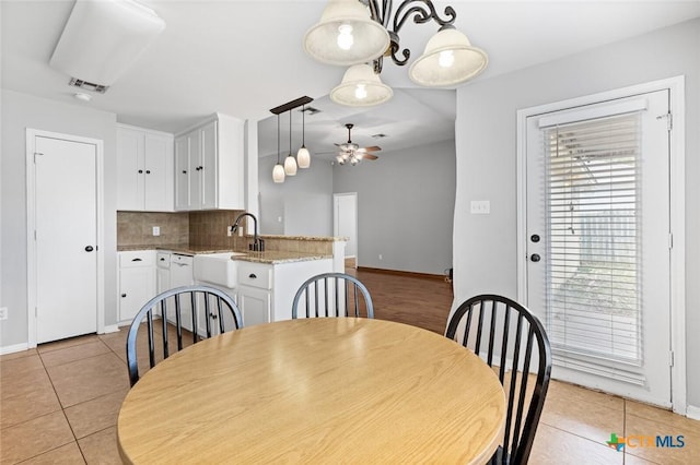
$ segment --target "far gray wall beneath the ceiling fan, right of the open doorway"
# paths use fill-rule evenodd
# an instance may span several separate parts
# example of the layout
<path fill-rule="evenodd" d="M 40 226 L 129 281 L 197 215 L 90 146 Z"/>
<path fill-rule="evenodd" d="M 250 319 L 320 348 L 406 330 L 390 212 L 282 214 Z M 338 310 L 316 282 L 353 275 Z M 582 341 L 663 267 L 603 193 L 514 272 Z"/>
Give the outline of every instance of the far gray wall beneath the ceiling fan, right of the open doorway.
<path fill-rule="evenodd" d="M 359 266 L 430 274 L 452 266 L 454 141 L 336 165 L 334 192 L 358 193 Z"/>

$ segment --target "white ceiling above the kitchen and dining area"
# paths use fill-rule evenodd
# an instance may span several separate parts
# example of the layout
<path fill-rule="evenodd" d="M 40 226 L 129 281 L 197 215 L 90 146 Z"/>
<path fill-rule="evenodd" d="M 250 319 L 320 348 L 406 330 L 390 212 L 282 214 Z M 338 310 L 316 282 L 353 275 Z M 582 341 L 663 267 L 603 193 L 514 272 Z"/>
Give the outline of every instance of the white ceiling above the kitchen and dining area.
<path fill-rule="evenodd" d="M 347 140 L 384 152 L 454 136 L 454 90 L 417 88 L 406 67 L 385 61 L 382 80 L 394 98 L 370 109 L 348 108 L 327 94 L 345 72 L 307 57 L 304 32 L 325 0 L 140 0 L 165 21 L 165 31 L 106 94 L 73 98 L 68 76 L 48 67 L 73 0 L 1 0 L 2 87 L 117 114 L 119 122 L 177 133 L 219 111 L 260 121 L 259 155 L 277 154 L 277 119 L 269 109 L 298 97 L 315 98 L 322 112 L 306 117 L 312 154 Z M 398 2 L 396 2 L 398 4 Z M 576 53 L 700 16 L 686 1 L 436 1 L 453 5 L 456 26 L 489 55 L 475 81 Z M 436 28 L 407 24 L 401 45 L 413 56 Z M 86 38 L 89 39 L 89 38 Z M 467 83 L 466 85 L 469 85 Z M 293 111 L 294 147 L 301 112 Z M 281 152 L 289 152 L 289 115 L 281 116 Z M 387 138 L 373 139 L 385 133 Z"/>

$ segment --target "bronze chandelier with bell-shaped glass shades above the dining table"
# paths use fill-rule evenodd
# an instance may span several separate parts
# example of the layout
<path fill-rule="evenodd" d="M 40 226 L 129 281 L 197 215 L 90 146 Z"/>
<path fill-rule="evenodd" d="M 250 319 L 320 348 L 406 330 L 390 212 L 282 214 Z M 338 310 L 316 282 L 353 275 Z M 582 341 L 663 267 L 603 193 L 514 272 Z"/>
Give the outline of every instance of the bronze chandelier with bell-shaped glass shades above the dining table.
<path fill-rule="evenodd" d="M 330 0 L 320 21 L 306 32 L 304 50 L 322 63 L 350 67 L 330 91 L 331 100 L 348 106 L 378 105 L 394 94 L 380 79 L 384 58 L 401 67 L 410 58 L 410 50 L 401 49 L 399 39 L 410 19 L 416 24 L 432 21 L 440 26 L 423 55 L 409 67 L 411 81 L 447 87 L 486 69 L 488 56 L 454 27 L 456 17 L 452 7 L 446 7 L 441 17 L 431 0 L 404 0 L 396 12 L 392 0 Z"/>

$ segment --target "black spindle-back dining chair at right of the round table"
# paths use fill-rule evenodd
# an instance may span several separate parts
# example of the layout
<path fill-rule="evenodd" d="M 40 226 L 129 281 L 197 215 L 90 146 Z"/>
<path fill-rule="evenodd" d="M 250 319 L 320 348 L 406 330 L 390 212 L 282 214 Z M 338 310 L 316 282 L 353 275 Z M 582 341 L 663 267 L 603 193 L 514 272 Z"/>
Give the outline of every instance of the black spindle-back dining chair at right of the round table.
<path fill-rule="evenodd" d="M 480 295 L 455 310 L 445 336 L 498 369 L 505 391 L 503 443 L 489 463 L 526 464 L 551 374 L 551 347 L 542 324 L 514 300 Z"/>

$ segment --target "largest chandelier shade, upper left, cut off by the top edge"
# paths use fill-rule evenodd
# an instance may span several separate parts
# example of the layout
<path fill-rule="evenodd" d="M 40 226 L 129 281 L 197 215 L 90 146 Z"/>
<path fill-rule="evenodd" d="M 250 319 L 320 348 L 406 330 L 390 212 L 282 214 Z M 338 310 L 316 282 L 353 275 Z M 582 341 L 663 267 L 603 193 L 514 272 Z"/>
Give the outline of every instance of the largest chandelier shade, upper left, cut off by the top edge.
<path fill-rule="evenodd" d="M 304 36 L 304 50 L 327 64 L 350 65 L 382 56 L 389 46 L 388 32 L 370 16 L 358 0 L 330 0 Z"/>

